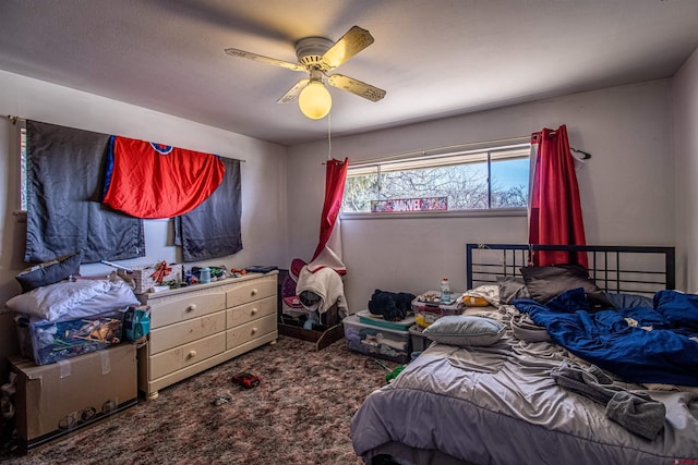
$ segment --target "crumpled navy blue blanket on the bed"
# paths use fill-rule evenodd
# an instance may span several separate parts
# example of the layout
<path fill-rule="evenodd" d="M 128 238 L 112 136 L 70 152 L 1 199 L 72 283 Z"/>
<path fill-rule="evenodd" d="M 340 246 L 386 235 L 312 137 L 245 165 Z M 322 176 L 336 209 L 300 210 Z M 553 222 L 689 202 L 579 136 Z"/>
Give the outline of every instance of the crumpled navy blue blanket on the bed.
<path fill-rule="evenodd" d="M 542 305 L 516 299 L 551 339 L 631 382 L 698 386 L 698 296 L 660 291 L 653 308 L 592 310 L 582 289 Z"/>

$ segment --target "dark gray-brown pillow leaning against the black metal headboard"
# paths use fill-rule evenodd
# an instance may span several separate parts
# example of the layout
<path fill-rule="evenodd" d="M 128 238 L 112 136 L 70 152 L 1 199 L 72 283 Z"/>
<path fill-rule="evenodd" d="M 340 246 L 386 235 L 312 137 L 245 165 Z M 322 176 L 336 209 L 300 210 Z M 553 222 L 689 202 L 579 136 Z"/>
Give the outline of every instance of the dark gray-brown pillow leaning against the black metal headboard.
<path fill-rule="evenodd" d="M 571 289 L 581 287 L 594 308 L 613 308 L 605 293 L 589 278 L 581 265 L 564 264 L 524 267 L 521 274 L 531 298 L 541 304 Z"/>

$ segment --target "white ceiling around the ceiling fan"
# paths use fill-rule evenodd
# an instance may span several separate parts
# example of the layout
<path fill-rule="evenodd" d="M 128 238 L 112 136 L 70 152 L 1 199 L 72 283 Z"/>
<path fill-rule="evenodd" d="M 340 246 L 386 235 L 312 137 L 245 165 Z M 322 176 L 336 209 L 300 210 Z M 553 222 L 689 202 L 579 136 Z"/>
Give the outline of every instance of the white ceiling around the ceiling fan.
<path fill-rule="evenodd" d="M 698 47 L 697 0 L 2 0 L 0 69 L 292 145 L 327 119 L 279 105 L 309 36 L 375 42 L 336 70 L 333 136 L 672 76 Z M 22 117 L 22 115 L 20 115 Z"/>

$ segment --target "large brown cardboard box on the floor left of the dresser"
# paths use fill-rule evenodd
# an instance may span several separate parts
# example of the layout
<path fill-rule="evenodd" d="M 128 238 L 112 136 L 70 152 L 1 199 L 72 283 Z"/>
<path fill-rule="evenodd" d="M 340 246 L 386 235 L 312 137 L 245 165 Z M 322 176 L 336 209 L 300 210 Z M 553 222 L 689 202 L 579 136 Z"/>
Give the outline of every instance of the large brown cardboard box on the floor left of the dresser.
<path fill-rule="evenodd" d="M 17 375 L 15 426 L 32 451 L 137 403 L 136 347 L 120 344 L 56 364 L 10 357 Z"/>

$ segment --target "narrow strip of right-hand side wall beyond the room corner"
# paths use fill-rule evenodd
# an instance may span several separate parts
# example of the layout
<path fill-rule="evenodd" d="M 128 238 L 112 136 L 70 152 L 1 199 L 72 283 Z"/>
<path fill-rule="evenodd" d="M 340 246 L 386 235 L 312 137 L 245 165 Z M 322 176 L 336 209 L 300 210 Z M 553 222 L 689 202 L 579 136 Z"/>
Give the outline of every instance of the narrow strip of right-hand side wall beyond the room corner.
<path fill-rule="evenodd" d="M 673 79 L 677 276 L 698 292 L 698 49 Z"/>

